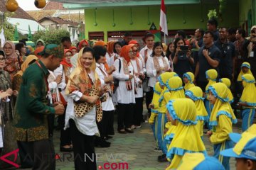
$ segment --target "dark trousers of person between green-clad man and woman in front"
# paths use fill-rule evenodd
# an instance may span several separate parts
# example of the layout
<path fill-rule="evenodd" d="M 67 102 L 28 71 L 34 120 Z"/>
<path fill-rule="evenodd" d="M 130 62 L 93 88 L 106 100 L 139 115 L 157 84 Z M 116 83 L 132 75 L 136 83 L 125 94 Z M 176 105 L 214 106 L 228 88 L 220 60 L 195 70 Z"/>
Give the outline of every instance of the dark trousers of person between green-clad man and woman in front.
<path fill-rule="evenodd" d="M 64 130 L 65 111 L 63 115 L 58 115 L 58 124 L 60 125 L 60 147 L 71 145 L 70 129 Z"/>

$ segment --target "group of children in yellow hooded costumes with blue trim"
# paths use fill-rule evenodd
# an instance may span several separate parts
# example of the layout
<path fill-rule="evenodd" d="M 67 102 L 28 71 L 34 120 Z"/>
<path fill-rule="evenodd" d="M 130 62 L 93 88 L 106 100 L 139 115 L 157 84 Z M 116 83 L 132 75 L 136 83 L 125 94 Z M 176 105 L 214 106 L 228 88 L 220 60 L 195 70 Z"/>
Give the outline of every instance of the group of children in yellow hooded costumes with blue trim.
<path fill-rule="evenodd" d="M 154 86 L 154 96 L 149 105 L 149 123 L 156 139 L 156 149 L 163 152 L 158 157 L 159 162 L 170 162 L 166 169 L 177 169 L 183 162 L 181 159 L 193 157 L 191 153 L 198 153 L 198 157 L 206 159 L 207 152 L 203 144 L 204 125 L 208 127 L 206 135 L 213 144 L 213 157 L 218 159 L 225 169 L 230 169 L 230 157 L 220 153 L 233 147 L 229 134 L 233 132 L 232 125 L 237 123 L 230 106 L 233 102 L 233 94 L 229 89 L 231 83 L 226 78 L 217 80 L 218 72 L 215 69 L 206 71 L 206 78 L 208 85 L 205 93 L 193 84 L 194 75 L 191 72 L 183 75 L 183 82 L 175 72 L 165 72 L 159 76 Z M 244 132 L 252 125 L 256 106 L 255 78 L 250 72 L 249 63 L 242 64 L 238 81 L 241 81 L 243 86 L 238 105 L 242 109 Z"/>

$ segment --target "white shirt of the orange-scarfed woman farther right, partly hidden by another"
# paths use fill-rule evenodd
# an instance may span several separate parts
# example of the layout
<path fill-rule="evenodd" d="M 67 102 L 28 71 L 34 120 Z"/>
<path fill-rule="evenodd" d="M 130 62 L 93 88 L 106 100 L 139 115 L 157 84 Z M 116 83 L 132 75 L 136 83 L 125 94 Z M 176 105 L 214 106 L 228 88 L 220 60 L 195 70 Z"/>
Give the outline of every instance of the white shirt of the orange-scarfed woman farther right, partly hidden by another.
<path fill-rule="evenodd" d="M 131 60 L 131 64 L 132 64 L 132 67 L 134 68 L 134 73 L 142 73 L 143 74 L 142 60 L 139 60 L 139 69 L 137 68 L 136 60 Z M 142 98 L 143 97 L 143 89 L 142 89 L 142 85 L 141 85 L 141 87 L 139 87 L 140 79 L 139 79 L 139 77 L 134 76 L 134 80 L 135 80 L 136 91 L 137 91 L 137 94 L 135 94 L 135 98 Z"/>

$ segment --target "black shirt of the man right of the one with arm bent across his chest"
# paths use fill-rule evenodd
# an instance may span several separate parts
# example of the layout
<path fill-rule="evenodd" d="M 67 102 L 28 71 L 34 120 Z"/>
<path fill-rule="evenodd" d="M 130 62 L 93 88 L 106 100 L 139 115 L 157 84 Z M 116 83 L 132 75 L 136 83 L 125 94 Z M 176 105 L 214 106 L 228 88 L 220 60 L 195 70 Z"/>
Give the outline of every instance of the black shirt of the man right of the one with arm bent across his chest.
<path fill-rule="evenodd" d="M 233 73 L 233 57 L 235 57 L 235 45 L 233 42 L 221 42 L 220 39 L 214 42 L 220 50 L 219 73 L 220 78 L 230 78 Z M 228 77 L 227 77 L 228 76 Z"/>

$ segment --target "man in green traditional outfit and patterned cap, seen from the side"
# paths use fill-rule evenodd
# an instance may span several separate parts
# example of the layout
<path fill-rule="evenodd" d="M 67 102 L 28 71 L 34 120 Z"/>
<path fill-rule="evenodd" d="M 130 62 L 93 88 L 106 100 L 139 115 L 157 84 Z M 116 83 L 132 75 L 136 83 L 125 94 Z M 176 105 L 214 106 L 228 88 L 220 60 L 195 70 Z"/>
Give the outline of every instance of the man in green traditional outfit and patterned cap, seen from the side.
<path fill-rule="evenodd" d="M 63 47 L 49 44 L 41 52 L 41 59 L 31 64 L 22 77 L 21 89 L 16 101 L 16 140 L 25 145 L 26 159 L 33 161 L 33 170 L 54 170 L 53 147 L 54 115 L 64 112 L 62 103 L 50 106 L 48 99 L 48 69 L 53 71 L 63 60 Z M 24 154 L 24 153 L 23 153 Z M 23 160 L 21 160 L 22 162 Z"/>

